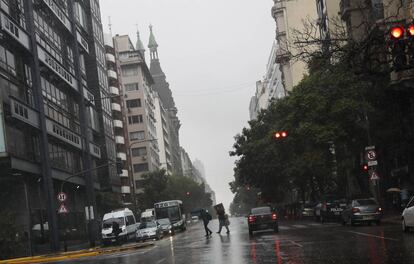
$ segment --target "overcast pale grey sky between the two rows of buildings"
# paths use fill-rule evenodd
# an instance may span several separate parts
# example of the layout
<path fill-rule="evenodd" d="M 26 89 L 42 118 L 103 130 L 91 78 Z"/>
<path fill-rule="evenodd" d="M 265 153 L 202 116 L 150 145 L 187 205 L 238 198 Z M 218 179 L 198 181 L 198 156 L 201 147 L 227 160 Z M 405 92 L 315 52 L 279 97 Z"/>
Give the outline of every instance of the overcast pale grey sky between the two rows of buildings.
<path fill-rule="evenodd" d="M 148 44 L 151 23 L 182 126 L 180 143 L 200 159 L 218 202 L 233 199 L 233 137 L 247 125 L 255 82 L 275 37 L 272 0 L 101 0 L 112 33 L 136 29 Z M 147 52 L 148 55 L 148 52 Z"/>

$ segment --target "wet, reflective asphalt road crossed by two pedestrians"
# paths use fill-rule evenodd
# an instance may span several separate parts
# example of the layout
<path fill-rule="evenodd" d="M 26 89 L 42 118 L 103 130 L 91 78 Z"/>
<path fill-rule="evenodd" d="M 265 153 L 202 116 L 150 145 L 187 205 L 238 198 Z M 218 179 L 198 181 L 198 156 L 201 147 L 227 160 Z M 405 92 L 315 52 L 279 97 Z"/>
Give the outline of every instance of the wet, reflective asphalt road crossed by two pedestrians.
<path fill-rule="evenodd" d="M 60 263 L 414 263 L 414 232 L 399 225 L 341 226 L 286 221 L 280 231 L 249 237 L 245 218 L 231 218 L 230 235 L 204 237 L 201 223 L 137 251 Z M 218 222 L 209 225 L 217 231 Z"/>

